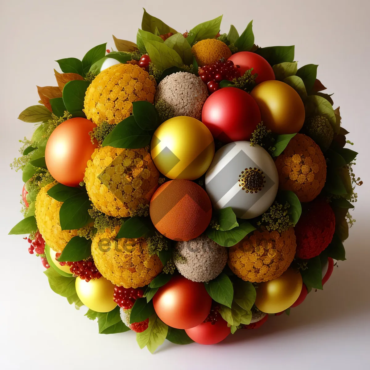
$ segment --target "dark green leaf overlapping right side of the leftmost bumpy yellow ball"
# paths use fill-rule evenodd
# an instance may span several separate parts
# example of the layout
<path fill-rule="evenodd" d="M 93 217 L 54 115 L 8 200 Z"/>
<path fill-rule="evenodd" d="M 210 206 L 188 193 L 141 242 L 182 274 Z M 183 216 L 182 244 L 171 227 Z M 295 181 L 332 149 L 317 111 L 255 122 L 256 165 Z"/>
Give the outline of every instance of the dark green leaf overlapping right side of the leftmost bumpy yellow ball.
<path fill-rule="evenodd" d="M 87 226 L 92 221 L 87 212 L 90 208 L 91 201 L 85 193 L 76 194 L 66 199 L 59 211 L 62 230 L 75 230 Z"/>

